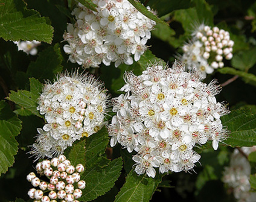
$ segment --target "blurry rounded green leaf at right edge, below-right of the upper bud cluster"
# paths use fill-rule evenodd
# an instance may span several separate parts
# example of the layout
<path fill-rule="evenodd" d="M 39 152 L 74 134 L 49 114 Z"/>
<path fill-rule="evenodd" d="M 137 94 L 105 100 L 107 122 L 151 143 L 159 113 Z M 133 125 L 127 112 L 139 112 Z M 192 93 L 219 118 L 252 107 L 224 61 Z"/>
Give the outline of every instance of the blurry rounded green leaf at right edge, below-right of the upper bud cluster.
<path fill-rule="evenodd" d="M 231 64 L 234 68 L 248 71 L 256 63 L 256 48 L 234 54 Z"/>

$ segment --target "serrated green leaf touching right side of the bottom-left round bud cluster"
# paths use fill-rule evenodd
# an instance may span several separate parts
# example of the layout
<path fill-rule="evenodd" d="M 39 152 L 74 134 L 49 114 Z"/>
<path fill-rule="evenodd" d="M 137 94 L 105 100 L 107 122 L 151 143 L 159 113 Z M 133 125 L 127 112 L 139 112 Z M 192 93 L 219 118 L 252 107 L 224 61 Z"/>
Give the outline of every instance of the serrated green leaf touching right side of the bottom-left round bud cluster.
<path fill-rule="evenodd" d="M 84 194 L 80 200 L 91 201 L 109 191 L 121 174 L 122 164 L 122 159 L 118 158 L 109 162 L 104 168 L 94 166 L 86 169 L 81 177 L 86 181 L 86 188 L 83 189 Z"/>

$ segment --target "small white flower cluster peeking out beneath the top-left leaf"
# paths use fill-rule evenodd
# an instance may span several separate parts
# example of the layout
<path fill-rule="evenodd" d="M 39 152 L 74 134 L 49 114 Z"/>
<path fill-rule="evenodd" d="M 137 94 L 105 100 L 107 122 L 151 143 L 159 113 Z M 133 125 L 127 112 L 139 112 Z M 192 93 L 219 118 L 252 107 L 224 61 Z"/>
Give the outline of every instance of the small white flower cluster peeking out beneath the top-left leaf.
<path fill-rule="evenodd" d="M 36 40 L 33 41 L 18 41 L 14 42 L 18 46 L 19 51 L 24 51 L 27 54 L 30 55 L 36 55 L 37 54 L 37 46 L 40 45 L 41 42 L 37 42 Z"/>

